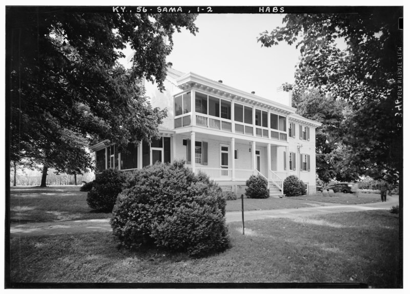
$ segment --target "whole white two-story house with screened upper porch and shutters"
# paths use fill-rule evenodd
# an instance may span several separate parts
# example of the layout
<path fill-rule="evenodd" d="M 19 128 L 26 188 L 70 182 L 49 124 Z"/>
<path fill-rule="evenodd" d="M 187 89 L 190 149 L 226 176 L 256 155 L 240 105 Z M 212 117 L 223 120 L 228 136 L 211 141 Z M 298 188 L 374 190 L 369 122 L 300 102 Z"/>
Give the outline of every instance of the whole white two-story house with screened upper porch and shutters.
<path fill-rule="evenodd" d="M 282 103 L 179 72 L 172 65 L 164 85 L 161 93 L 145 83 L 152 106 L 168 109 L 158 128 L 161 138 L 130 144 L 122 156 L 115 144 L 95 144 L 91 150 L 96 173 L 182 159 L 193 172 L 207 174 L 224 191 L 238 195 L 257 174 L 269 181 L 271 196 L 283 194 L 283 180 L 289 175 L 306 184 L 307 194 L 316 193 L 315 129 L 321 123 L 295 114 L 288 93 Z"/>

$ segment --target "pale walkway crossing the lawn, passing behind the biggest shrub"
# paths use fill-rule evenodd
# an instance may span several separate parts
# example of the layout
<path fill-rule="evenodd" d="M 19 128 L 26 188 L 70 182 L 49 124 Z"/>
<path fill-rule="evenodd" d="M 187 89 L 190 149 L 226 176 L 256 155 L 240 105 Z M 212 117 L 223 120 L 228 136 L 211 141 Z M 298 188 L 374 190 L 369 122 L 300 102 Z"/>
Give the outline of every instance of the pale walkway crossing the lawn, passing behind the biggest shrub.
<path fill-rule="evenodd" d="M 389 209 L 399 204 L 399 197 L 388 197 L 387 202 L 376 202 L 368 204 L 340 205 L 331 204 L 329 206 L 314 206 L 288 209 L 270 209 L 265 211 L 245 211 L 245 221 L 270 219 L 270 218 L 296 218 L 310 217 L 315 215 L 359 212 L 374 209 Z M 242 221 L 241 212 L 227 212 L 227 222 Z M 11 224 L 11 237 L 41 236 L 56 234 L 73 234 L 88 232 L 111 232 L 110 219 L 91 219 L 91 220 L 71 220 L 47 223 L 25 223 Z"/>

